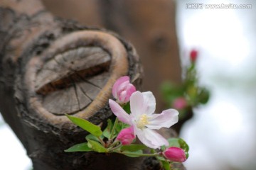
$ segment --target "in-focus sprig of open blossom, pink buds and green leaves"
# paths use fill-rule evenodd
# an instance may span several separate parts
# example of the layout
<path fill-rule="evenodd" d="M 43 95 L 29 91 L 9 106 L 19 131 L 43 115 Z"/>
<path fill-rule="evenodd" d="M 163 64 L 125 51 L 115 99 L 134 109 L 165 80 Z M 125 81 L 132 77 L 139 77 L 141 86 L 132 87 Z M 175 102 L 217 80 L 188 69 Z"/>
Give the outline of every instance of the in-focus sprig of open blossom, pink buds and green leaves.
<path fill-rule="evenodd" d="M 188 145 L 180 138 L 166 140 L 156 130 L 170 128 L 178 122 L 178 111 L 168 109 L 157 114 L 156 99 L 151 91 L 136 91 L 129 77 L 120 77 L 114 83 L 110 99 L 111 111 L 117 118 L 107 121 L 107 128 L 93 125 L 87 120 L 67 115 L 76 125 L 90 135 L 87 142 L 75 145 L 65 152 L 119 153 L 128 157 L 156 157 L 164 169 L 170 169 L 172 162 L 184 162 L 188 158 Z M 136 139 L 142 145 L 135 143 Z M 151 153 L 148 153 L 151 149 Z"/>

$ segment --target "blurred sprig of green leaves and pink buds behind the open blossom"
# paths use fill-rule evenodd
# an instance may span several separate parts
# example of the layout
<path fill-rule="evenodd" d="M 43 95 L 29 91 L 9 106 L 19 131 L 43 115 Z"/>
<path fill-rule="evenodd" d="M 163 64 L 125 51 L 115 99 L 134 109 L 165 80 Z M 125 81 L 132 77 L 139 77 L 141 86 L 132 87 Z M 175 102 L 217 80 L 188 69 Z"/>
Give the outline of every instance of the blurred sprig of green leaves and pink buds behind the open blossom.
<path fill-rule="evenodd" d="M 208 102 L 210 93 L 208 89 L 200 86 L 198 83 L 198 72 L 196 64 L 200 59 L 200 52 L 191 49 L 188 53 L 189 64 L 183 70 L 183 82 L 175 84 L 174 82 L 165 82 L 161 86 L 162 96 L 167 106 L 178 110 L 178 118 L 181 120 L 176 125 L 176 131 L 180 129 L 182 123 L 193 116 L 192 108 L 196 108 Z"/>

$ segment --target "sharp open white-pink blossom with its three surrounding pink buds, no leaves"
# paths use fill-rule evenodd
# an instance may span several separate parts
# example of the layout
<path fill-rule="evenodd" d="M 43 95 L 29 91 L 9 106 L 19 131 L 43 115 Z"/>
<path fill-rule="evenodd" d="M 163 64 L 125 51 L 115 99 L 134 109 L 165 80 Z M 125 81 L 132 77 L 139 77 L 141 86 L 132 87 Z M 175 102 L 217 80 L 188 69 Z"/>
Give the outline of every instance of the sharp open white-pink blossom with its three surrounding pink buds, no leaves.
<path fill-rule="evenodd" d="M 127 81 L 129 81 L 129 77 L 121 77 L 117 80 L 113 86 L 113 96 L 117 102 L 112 99 L 109 100 L 110 108 L 114 115 L 122 123 L 130 125 L 129 128 L 124 128 L 119 132 L 117 140 L 122 145 L 130 145 L 134 141 L 135 135 L 137 135 L 139 140 L 149 148 L 160 149 L 161 146 L 168 147 L 169 142 L 155 130 L 170 128 L 171 125 L 177 123 L 178 111 L 168 109 L 160 114 L 154 113 L 156 99 L 151 91 L 135 91 L 135 87 Z M 125 98 L 126 100 L 120 102 L 120 98 Z M 119 103 L 124 104 L 129 101 L 131 113 L 126 113 Z M 177 103 L 177 105 L 184 105 L 184 103 L 180 101 L 180 104 Z M 186 161 L 186 154 L 179 147 L 169 147 L 162 154 L 166 159 L 173 162 Z"/>

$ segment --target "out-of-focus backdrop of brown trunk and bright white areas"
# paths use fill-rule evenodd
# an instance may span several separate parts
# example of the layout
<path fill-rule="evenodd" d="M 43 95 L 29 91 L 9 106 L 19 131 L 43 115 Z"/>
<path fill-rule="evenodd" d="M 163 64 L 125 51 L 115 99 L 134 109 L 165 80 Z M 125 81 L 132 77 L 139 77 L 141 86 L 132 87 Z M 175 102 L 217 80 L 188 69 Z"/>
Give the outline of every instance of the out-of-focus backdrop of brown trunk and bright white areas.
<path fill-rule="evenodd" d="M 143 90 L 154 93 L 157 111 L 170 106 L 161 93 L 162 84 L 181 85 L 191 64 L 190 52 L 196 50 L 198 85 L 210 91 L 210 98 L 193 108 L 193 117 L 181 128 L 180 136 L 190 146 L 186 168 L 256 169 L 255 1 L 43 0 L 43 4 L 55 16 L 107 28 L 132 42 L 144 66 Z M 0 169 L 30 169 L 23 147 L 1 117 L 0 122 L 0 160 L 4 160 Z"/>

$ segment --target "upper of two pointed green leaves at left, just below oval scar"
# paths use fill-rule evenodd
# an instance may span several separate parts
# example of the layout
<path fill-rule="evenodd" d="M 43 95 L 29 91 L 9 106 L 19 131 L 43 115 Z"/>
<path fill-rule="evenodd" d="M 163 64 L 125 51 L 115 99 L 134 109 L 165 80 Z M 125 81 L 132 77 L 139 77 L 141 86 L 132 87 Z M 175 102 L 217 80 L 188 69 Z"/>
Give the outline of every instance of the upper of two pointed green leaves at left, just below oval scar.
<path fill-rule="evenodd" d="M 92 135 L 95 135 L 96 137 L 100 137 L 100 135 L 102 135 L 102 130 L 100 130 L 99 126 L 94 125 L 85 119 L 77 118 L 72 115 L 67 115 L 67 117 L 73 123 L 75 123 L 75 125 L 78 125 L 80 128 L 82 128 L 83 130 L 86 130 L 87 132 L 90 132 Z"/>

